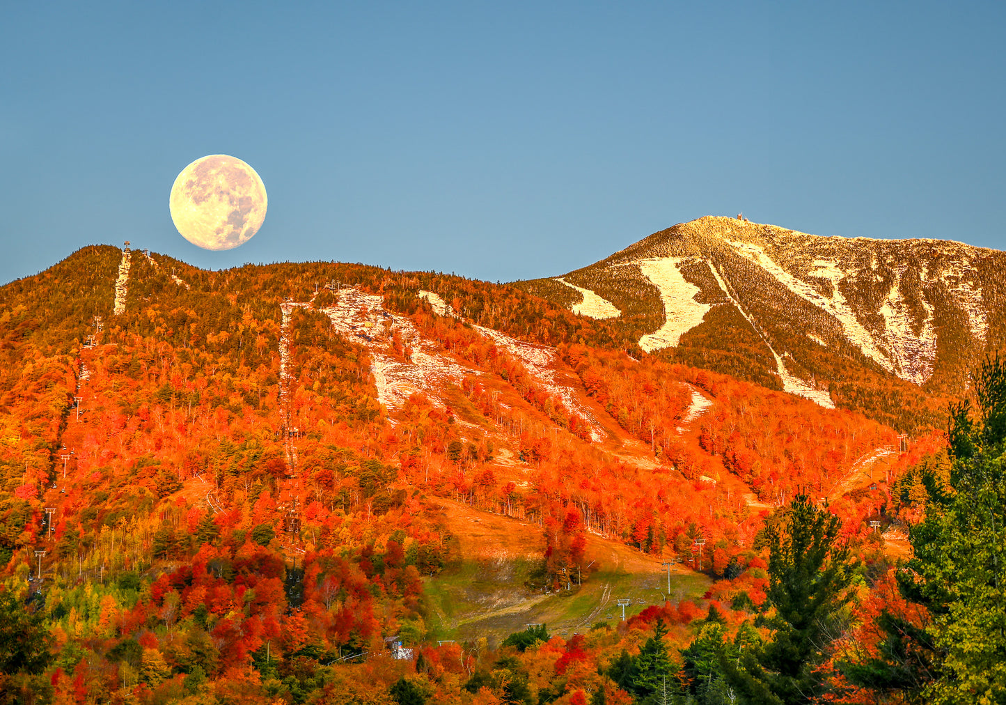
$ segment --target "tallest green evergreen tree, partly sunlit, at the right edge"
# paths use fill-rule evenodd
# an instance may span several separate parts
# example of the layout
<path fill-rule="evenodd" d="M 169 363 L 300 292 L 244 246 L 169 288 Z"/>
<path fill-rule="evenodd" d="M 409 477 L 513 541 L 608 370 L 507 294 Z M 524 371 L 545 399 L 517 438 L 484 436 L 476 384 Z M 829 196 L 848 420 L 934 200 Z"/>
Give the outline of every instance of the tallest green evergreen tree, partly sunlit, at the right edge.
<path fill-rule="evenodd" d="M 875 684 L 925 702 L 1006 703 L 1006 364 L 986 360 L 973 382 L 977 408 L 951 410 L 950 481 L 924 477 L 927 518 L 898 576 L 933 623 L 902 636 L 889 621 L 883 658 L 866 664 Z"/>

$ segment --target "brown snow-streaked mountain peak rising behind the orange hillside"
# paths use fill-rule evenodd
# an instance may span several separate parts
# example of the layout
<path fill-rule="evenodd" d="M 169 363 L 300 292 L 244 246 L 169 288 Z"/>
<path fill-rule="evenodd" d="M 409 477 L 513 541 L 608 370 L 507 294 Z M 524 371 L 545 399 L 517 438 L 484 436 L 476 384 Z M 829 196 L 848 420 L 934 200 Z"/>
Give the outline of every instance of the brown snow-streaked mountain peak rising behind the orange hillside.
<path fill-rule="evenodd" d="M 936 412 L 1006 343 L 1004 268 L 1006 253 L 951 241 L 706 217 L 516 285 L 614 323 L 644 352 L 908 430 L 937 419 L 903 409 Z"/>

